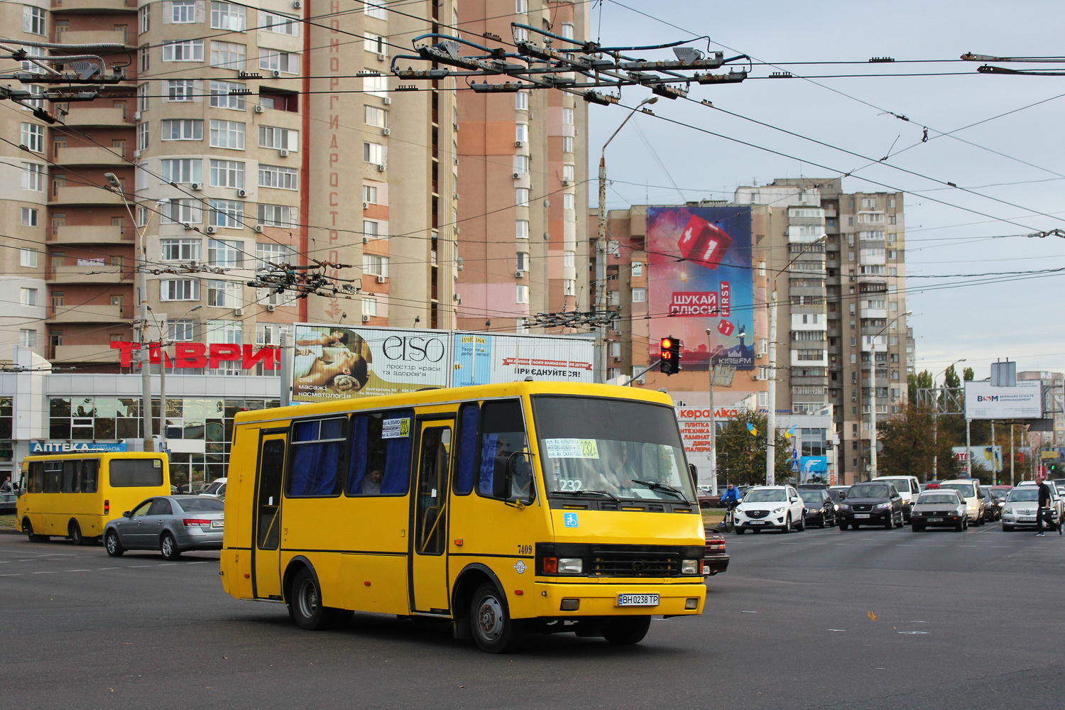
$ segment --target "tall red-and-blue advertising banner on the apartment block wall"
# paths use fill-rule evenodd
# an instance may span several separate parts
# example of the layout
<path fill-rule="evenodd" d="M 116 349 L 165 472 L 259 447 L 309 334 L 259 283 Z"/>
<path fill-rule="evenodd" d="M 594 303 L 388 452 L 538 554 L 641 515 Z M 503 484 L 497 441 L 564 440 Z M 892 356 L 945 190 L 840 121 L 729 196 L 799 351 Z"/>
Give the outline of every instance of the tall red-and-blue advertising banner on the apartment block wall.
<path fill-rule="evenodd" d="M 651 347 L 672 335 L 684 369 L 707 369 L 711 356 L 754 369 L 751 208 L 649 208 L 646 249 Z"/>

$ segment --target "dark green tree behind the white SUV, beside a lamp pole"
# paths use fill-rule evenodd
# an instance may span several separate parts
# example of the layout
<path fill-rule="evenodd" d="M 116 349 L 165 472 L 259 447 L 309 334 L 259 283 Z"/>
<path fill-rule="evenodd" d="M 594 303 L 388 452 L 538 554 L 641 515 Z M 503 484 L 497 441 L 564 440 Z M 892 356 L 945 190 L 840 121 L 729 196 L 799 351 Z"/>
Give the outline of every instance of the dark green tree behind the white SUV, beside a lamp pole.
<path fill-rule="evenodd" d="M 748 425 L 754 427 L 751 435 Z M 773 477 L 777 482 L 791 478 L 791 447 L 781 431 L 776 432 Z M 719 479 L 737 485 L 766 483 L 766 415 L 743 411 L 730 418 L 717 436 Z"/>

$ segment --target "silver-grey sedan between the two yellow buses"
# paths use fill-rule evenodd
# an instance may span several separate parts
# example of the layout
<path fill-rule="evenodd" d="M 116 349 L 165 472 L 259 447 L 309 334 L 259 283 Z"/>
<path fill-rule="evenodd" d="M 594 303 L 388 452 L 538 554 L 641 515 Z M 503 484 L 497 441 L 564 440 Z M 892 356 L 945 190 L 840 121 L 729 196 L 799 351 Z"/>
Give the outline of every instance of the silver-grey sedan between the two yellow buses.
<path fill-rule="evenodd" d="M 225 503 L 206 496 L 170 495 L 148 498 L 103 527 L 103 546 L 111 557 L 126 550 L 158 549 L 176 560 L 193 549 L 222 549 Z"/>

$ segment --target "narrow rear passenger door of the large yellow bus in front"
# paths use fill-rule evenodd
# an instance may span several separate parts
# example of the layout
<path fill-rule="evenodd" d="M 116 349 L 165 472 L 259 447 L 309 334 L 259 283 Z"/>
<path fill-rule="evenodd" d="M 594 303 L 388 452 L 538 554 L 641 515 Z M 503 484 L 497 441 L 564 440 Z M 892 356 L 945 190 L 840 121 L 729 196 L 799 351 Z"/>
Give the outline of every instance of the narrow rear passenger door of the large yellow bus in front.
<path fill-rule="evenodd" d="M 256 475 L 252 595 L 281 598 L 281 481 L 286 434 L 265 434 L 259 442 Z"/>

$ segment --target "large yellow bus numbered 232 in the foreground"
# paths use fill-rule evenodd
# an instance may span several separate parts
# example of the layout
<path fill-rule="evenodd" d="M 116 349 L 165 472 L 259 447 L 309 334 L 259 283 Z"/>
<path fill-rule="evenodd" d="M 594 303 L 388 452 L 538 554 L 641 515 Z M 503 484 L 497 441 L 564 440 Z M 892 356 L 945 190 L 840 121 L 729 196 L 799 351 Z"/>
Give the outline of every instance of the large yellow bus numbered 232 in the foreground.
<path fill-rule="evenodd" d="M 632 644 L 702 613 L 704 540 L 667 395 L 514 382 L 239 413 L 220 574 L 306 629 L 360 611 L 489 653 Z"/>

